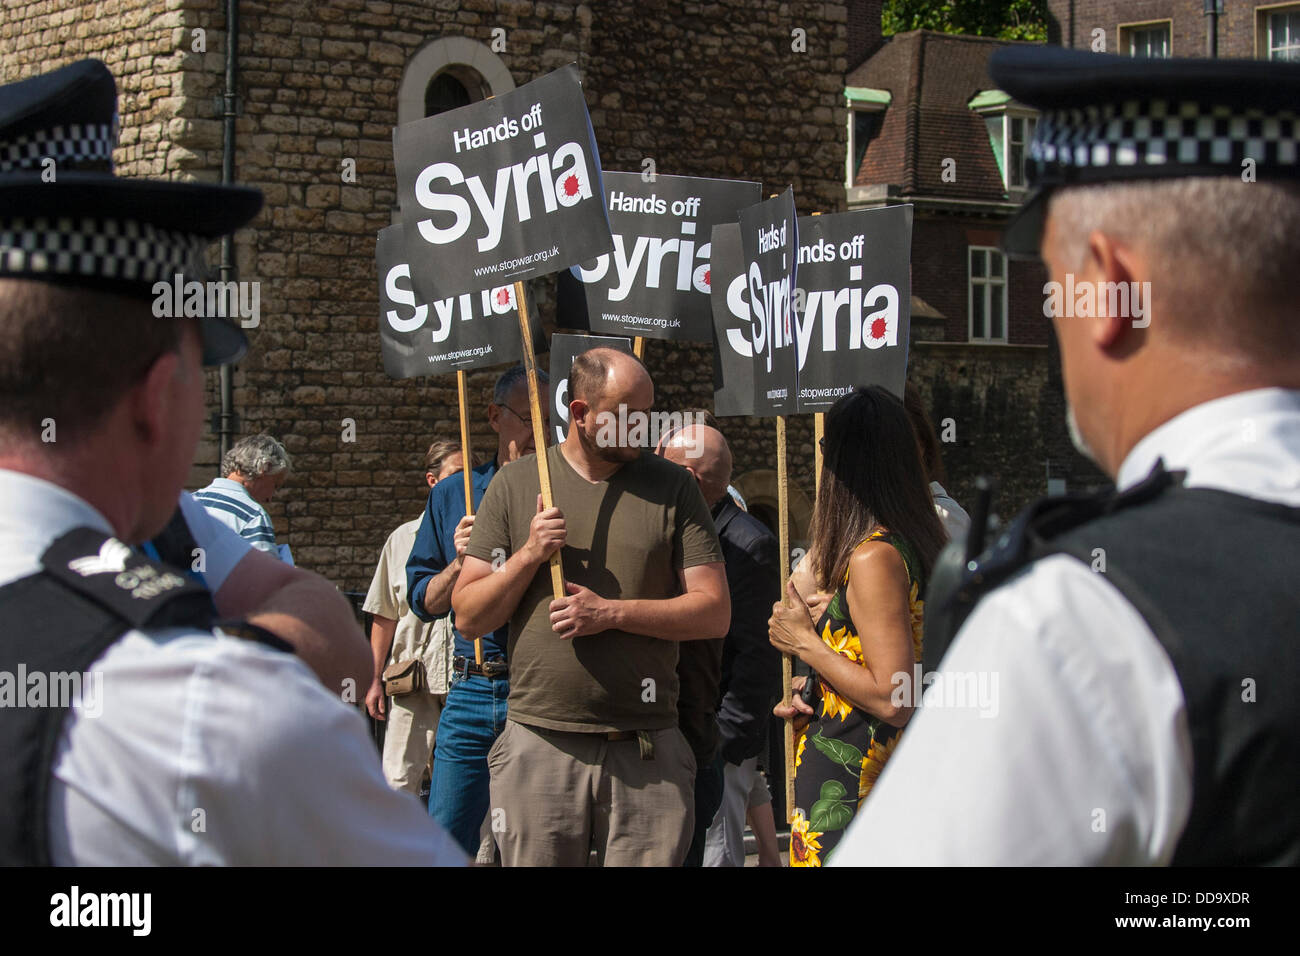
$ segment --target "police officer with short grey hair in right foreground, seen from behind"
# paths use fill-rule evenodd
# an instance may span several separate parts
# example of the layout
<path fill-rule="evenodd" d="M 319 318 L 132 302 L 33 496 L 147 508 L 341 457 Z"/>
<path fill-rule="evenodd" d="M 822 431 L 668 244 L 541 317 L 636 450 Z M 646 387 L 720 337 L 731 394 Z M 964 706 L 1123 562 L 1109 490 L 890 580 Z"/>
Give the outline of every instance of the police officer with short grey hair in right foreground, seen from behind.
<path fill-rule="evenodd" d="M 959 630 L 833 862 L 1296 865 L 1300 66 L 989 70 L 1041 111 L 1004 246 L 1056 284 L 1071 433 L 1115 490 L 931 591 Z"/>

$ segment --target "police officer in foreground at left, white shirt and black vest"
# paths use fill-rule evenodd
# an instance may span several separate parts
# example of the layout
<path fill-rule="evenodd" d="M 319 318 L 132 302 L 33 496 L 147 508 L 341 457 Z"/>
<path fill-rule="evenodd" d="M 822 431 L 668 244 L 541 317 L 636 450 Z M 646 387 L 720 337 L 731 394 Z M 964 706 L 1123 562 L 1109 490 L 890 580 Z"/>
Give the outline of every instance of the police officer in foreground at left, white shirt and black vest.
<path fill-rule="evenodd" d="M 98 61 L 0 87 L 0 862 L 464 862 L 285 641 L 134 548 L 176 510 L 202 363 L 247 347 L 152 285 L 261 196 L 118 179 L 114 126 Z"/>

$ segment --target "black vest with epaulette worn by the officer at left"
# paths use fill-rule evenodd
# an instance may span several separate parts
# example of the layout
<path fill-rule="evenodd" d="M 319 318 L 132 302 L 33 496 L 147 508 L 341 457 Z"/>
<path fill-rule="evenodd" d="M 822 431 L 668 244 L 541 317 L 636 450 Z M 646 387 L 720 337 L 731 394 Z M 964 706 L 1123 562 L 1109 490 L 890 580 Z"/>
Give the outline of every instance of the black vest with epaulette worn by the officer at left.
<path fill-rule="evenodd" d="M 133 628 L 187 627 L 289 645 L 243 622 L 218 622 L 211 594 L 183 572 L 150 561 L 117 538 L 75 528 L 40 558 L 42 570 L 0 588 L 0 678 L 13 700 L 0 706 L 0 866 L 48 866 L 49 782 L 55 749 L 73 702 L 72 675 Z M 46 693 L 29 704 L 31 675 Z M 35 684 L 34 684 L 35 685 Z"/>

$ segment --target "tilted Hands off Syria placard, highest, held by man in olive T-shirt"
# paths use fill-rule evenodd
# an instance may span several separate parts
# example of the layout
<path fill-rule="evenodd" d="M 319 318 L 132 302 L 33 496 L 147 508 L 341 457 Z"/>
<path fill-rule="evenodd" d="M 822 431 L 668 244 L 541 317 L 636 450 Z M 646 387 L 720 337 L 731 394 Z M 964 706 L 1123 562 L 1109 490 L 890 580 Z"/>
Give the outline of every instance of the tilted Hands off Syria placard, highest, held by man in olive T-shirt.
<path fill-rule="evenodd" d="M 425 300 L 545 276 L 614 246 L 576 65 L 403 124 L 393 153 Z"/>

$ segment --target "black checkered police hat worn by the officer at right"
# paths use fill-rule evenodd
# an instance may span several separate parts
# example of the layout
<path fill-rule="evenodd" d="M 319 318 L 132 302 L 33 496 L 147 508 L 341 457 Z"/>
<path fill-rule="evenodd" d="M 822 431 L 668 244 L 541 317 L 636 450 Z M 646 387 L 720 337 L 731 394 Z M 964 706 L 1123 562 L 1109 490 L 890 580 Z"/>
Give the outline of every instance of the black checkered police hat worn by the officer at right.
<path fill-rule="evenodd" d="M 1247 160 L 1257 179 L 1300 179 L 1297 64 L 1008 47 L 989 74 L 1041 111 L 1026 169 L 1034 190 L 1002 235 L 1011 258 L 1037 258 L 1048 199 L 1062 186 L 1240 177 Z"/>

